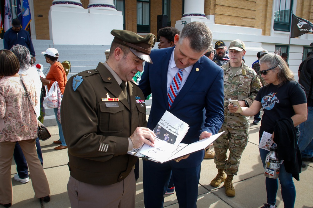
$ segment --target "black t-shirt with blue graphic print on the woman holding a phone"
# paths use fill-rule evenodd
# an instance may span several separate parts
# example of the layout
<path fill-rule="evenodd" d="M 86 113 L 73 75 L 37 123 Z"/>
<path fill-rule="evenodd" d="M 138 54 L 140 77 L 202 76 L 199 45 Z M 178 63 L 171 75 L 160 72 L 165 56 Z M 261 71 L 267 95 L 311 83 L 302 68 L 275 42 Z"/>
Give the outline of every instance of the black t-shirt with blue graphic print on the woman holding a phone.
<path fill-rule="evenodd" d="M 291 118 L 295 115 L 292 106 L 306 103 L 306 95 L 304 88 L 298 82 L 287 81 L 280 87 L 273 84 L 263 86 L 255 100 L 261 102 L 264 112 L 259 132 L 261 138 L 263 131 L 274 132 L 277 119 Z"/>

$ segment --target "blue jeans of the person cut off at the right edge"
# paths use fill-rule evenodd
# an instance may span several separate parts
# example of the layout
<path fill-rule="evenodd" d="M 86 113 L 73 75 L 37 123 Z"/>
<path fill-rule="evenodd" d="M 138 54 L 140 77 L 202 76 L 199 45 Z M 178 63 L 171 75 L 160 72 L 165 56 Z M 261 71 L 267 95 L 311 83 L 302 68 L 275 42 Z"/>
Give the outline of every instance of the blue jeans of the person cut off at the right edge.
<path fill-rule="evenodd" d="M 302 158 L 313 157 L 313 107 L 308 106 L 308 119 L 300 124 L 299 150 Z"/>

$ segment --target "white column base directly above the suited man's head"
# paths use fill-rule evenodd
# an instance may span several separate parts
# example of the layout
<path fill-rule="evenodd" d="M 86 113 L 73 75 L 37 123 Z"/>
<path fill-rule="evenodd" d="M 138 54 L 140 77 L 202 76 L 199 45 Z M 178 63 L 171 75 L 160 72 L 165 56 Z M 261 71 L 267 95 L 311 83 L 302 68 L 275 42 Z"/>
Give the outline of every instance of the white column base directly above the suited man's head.
<path fill-rule="evenodd" d="M 185 0 L 185 13 L 182 19 L 190 17 L 207 19 L 204 14 L 204 0 Z"/>

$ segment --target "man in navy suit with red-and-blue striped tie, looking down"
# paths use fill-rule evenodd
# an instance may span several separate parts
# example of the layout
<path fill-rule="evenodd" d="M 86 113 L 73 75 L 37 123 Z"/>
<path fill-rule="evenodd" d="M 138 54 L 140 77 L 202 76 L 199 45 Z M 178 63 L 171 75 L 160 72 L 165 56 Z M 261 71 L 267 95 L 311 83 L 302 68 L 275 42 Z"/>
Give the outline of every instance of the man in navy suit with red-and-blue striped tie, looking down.
<path fill-rule="evenodd" d="M 175 47 L 151 51 L 153 65 L 145 64 L 139 83 L 145 96 L 153 96 L 148 128 L 154 129 L 167 110 L 189 124 L 182 143 L 190 144 L 218 133 L 224 120 L 223 70 L 203 56 L 211 41 L 212 32 L 204 23 L 191 22 L 180 35 L 175 35 Z M 177 76 L 179 71 L 182 74 Z M 181 80 L 175 81 L 176 76 Z M 174 81 L 180 85 L 175 89 L 174 100 L 169 102 Z M 204 108 L 206 118 L 201 128 Z M 203 156 L 204 151 L 200 151 L 164 164 L 143 161 L 145 207 L 163 207 L 171 170 L 179 207 L 197 207 Z"/>

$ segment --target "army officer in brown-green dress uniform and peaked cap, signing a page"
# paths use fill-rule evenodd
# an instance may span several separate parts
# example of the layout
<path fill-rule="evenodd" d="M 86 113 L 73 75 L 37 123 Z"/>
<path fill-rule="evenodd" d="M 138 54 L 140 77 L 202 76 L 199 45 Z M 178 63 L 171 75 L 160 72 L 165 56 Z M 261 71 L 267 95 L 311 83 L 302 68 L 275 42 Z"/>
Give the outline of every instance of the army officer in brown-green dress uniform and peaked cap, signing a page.
<path fill-rule="evenodd" d="M 145 97 L 130 81 L 143 61 L 152 63 L 156 38 L 125 30 L 111 34 L 109 60 L 72 76 L 62 100 L 73 208 L 135 207 L 137 157 L 127 151 L 154 144 L 155 134 L 145 128 Z"/>

